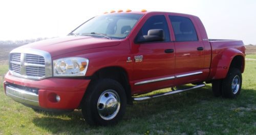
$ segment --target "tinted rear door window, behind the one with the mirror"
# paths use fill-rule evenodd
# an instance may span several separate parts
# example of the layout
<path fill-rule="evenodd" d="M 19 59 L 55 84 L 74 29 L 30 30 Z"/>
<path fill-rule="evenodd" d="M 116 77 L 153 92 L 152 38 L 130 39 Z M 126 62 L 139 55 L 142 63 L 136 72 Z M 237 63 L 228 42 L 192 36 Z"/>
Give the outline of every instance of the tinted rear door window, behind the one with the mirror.
<path fill-rule="evenodd" d="M 187 17 L 169 16 L 176 41 L 198 41 L 197 32 L 192 21 Z"/>

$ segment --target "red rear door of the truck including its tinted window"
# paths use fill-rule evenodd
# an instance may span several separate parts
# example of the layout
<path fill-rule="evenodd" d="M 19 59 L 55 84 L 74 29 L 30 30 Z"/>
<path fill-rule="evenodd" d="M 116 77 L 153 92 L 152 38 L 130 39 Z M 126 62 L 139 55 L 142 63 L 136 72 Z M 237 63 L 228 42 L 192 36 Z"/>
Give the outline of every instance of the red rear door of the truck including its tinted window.
<path fill-rule="evenodd" d="M 208 70 L 204 71 L 204 44 L 199 40 L 193 18 L 169 16 L 175 35 L 175 84 L 183 85 L 203 81 Z"/>

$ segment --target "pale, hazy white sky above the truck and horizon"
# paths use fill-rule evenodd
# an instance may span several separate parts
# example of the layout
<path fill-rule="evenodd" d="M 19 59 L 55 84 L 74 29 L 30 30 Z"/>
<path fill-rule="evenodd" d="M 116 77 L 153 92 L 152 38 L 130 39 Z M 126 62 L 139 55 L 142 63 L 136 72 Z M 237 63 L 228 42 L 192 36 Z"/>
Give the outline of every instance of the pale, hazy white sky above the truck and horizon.
<path fill-rule="evenodd" d="M 110 10 L 166 11 L 198 16 L 210 39 L 256 45 L 255 0 L 0 1 L 0 40 L 66 36 L 84 21 Z"/>

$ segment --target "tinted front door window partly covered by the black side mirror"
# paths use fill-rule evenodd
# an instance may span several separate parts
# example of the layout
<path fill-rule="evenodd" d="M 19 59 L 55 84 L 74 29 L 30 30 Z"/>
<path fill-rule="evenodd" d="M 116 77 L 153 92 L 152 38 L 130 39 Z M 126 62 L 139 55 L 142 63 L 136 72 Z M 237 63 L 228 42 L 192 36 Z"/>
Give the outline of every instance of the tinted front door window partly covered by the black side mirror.
<path fill-rule="evenodd" d="M 164 15 L 156 15 L 148 18 L 137 37 L 147 35 L 148 30 L 152 29 L 162 29 L 164 31 L 164 41 L 170 41 L 169 28 Z"/>

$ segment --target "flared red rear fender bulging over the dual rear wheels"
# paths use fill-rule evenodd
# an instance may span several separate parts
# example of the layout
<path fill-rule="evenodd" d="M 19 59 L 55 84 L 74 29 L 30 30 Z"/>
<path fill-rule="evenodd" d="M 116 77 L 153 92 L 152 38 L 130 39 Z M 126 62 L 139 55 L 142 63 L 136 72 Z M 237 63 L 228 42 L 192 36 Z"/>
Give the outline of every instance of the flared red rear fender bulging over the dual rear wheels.
<path fill-rule="evenodd" d="M 241 72 L 244 72 L 245 55 L 242 51 L 234 48 L 225 49 L 222 53 L 219 53 L 212 61 L 217 61 L 216 65 L 212 65 L 210 78 L 211 79 L 222 79 L 225 78 L 230 68 L 230 64 L 234 57 L 243 57 L 243 66 Z M 215 60 L 214 60 L 215 59 Z M 218 59 L 218 60 L 216 60 Z"/>

